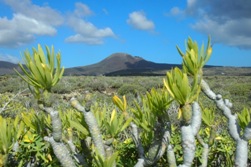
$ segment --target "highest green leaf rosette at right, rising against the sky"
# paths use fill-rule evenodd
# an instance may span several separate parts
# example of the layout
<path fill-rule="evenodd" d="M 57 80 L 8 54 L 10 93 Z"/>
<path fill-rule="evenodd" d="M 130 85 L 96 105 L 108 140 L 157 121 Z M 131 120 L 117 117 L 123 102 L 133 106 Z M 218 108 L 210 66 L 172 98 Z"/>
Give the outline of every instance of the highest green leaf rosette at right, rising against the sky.
<path fill-rule="evenodd" d="M 186 52 L 183 53 L 177 46 L 179 54 L 183 58 L 182 67 L 191 76 L 202 75 L 202 68 L 209 60 L 212 54 L 211 39 L 208 37 L 207 47 L 204 50 L 204 44 L 199 49 L 196 41 L 188 38 Z"/>

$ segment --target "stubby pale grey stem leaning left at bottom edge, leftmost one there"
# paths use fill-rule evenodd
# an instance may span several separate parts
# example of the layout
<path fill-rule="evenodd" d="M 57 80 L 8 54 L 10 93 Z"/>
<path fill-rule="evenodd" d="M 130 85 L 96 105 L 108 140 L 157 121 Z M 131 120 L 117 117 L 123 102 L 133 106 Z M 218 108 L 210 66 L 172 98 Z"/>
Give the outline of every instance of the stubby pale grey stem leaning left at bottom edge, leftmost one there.
<path fill-rule="evenodd" d="M 62 142 L 56 142 L 53 137 L 44 137 L 44 140 L 51 144 L 54 154 L 63 167 L 76 167 L 69 150 Z"/>

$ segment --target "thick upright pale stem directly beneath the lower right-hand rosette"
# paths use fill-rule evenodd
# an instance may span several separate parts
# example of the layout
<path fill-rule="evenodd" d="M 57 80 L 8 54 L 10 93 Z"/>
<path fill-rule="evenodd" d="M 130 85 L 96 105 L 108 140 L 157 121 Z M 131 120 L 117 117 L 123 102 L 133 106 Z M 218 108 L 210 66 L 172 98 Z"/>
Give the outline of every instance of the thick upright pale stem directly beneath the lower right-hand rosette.
<path fill-rule="evenodd" d="M 183 148 L 183 164 L 180 167 L 192 166 L 195 156 L 195 136 L 197 135 L 201 125 L 201 111 L 197 102 L 193 103 L 192 118 L 189 125 L 181 127 L 181 142 Z"/>

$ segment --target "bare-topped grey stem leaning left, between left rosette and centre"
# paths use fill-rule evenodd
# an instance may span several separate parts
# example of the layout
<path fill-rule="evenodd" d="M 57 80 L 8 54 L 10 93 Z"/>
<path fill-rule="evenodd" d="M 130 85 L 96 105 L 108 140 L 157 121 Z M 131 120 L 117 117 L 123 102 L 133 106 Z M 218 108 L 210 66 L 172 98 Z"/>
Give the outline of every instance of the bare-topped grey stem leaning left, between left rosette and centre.
<path fill-rule="evenodd" d="M 75 109 L 83 113 L 85 122 L 89 128 L 94 146 L 97 148 L 99 154 L 103 158 L 106 158 L 105 147 L 102 140 L 102 134 L 100 132 L 100 129 L 98 127 L 98 123 L 94 114 L 89 109 L 86 110 L 85 107 L 81 106 L 75 98 L 71 99 L 71 105 Z"/>

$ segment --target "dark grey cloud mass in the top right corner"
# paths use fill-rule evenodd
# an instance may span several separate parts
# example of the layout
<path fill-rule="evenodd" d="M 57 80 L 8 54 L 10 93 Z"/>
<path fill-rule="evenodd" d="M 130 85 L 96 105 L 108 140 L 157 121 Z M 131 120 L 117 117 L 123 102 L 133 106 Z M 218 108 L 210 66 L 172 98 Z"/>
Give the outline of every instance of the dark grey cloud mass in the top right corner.
<path fill-rule="evenodd" d="M 183 14 L 197 21 L 191 27 L 214 42 L 251 49 L 251 1 L 187 0 Z"/>

